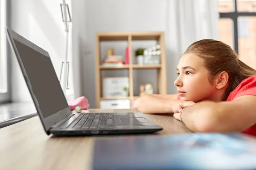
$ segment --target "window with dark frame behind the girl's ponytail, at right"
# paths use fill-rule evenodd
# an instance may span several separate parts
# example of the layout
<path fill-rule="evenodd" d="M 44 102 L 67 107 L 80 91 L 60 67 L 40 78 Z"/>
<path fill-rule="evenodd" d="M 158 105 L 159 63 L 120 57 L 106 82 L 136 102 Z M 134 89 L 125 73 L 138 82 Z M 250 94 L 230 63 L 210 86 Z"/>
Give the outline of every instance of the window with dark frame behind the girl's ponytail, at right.
<path fill-rule="evenodd" d="M 218 0 L 220 40 L 256 69 L 256 0 Z"/>

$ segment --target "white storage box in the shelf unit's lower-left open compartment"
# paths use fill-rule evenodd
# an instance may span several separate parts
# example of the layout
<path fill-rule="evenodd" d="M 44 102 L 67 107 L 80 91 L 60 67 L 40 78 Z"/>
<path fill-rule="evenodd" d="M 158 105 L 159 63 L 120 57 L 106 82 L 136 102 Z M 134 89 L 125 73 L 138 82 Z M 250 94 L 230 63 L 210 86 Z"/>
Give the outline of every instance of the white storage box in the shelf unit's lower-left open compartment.
<path fill-rule="evenodd" d="M 103 97 L 127 97 L 129 89 L 128 77 L 105 77 L 102 79 Z"/>

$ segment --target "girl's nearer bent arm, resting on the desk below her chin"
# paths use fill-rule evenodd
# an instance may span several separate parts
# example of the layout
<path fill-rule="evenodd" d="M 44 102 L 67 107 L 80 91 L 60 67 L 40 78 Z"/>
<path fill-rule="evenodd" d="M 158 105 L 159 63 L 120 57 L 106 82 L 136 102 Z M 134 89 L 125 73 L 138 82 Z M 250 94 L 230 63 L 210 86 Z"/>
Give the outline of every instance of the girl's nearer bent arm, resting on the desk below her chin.
<path fill-rule="evenodd" d="M 179 119 L 180 113 L 175 114 Z M 256 124 L 256 96 L 241 96 L 230 102 L 198 102 L 182 113 L 194 132 L 241 132 Z"/>

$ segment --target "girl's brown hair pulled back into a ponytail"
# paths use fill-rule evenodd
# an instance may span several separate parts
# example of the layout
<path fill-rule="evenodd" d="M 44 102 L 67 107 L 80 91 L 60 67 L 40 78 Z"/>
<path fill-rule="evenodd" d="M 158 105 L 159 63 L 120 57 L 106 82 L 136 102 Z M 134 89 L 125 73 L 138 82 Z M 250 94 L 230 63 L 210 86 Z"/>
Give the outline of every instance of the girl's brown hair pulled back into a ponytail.
<path fill-rule="evenodd" d="M 241 81 L 256 75 L 256 70 L 244 64 L 238 59 L 236 51 L 229 45 L 212 39 L 204 39 L 189 45 L 186 53 L 192 53 L 204 59 L 204 65 L 209 71 L 209 81 L 226 71 L 229 75 L 228 86 L 221 97 L 221 101 L 226 101 L 230 92 L 233 91 Z"/>

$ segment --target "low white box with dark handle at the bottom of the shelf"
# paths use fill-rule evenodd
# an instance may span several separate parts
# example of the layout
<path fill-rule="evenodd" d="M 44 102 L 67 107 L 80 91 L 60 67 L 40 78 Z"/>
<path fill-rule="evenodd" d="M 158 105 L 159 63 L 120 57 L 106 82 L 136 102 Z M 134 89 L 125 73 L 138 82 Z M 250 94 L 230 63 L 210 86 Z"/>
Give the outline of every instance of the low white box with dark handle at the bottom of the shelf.
<path fill-rule="evenodd" d="M 101 109 L 130 109 L 131 101 L 129 99 L 101 100 L 99 107 Z"/>

